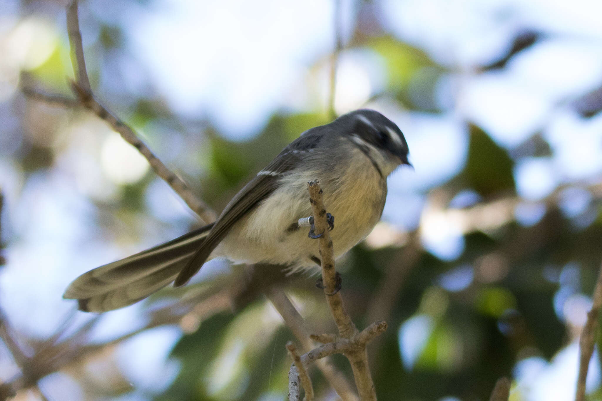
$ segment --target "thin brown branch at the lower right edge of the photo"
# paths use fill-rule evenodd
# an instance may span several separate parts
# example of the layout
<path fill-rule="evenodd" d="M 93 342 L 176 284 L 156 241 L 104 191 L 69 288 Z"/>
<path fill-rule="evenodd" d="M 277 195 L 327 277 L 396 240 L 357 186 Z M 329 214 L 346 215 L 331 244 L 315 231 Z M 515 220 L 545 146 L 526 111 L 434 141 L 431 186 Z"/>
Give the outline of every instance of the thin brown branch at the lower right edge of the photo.
<path fill-rule="evenodd" d="M 579 376 L 577 378 L 577 393 L 575 401 L 585 401 L 585 382 L 588 378 L 589 360 L 594 354 L 594 345 L 598 334 L 598 315 L 602 307 L 602 266 L 598 272 L 598 281 L 594 289 L 592 309 L 588 313 L 588 320 L 583 326 L 579 339 Z"/>

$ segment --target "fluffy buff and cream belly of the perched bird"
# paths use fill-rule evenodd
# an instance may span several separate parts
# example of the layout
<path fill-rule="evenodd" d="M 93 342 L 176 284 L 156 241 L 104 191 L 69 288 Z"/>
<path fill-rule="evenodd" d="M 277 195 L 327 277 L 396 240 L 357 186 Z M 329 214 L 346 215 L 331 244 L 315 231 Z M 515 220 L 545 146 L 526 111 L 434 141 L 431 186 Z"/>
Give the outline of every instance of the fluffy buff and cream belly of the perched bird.
<path fill-rule="evenodd" d="M 349 251 L 370 233 L 385 205 L 386 180 L 367 159 L 334 180 L 321 179 L 317 172 L 284 177 L 288 182 L 238 221 L 210 258 L 273 263 L 291 271 L 317 268 L 311 258 L 319 257 L 318 241 L 308 238 L 308 227 L 291 230 L 291 224 L 311 215 L 307 183 L 314 179 L 320 179 L 326 211 L 335 218 L 330 232 L 335 257 Z"/>

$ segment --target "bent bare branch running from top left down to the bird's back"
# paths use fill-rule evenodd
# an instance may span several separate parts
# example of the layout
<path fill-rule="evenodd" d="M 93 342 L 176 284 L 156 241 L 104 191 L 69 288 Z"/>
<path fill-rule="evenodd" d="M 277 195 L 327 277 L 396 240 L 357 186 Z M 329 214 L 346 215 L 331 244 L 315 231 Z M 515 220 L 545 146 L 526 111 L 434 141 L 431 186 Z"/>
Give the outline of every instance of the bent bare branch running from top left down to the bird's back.
<path fill-rule="evenodd" d="M 102 106 L 94 97 L 90 88 L 90 81 L 85 70 L 84 49 L 81 43 L 81 31 L 77 16 L 77 1 L 73 1 L 67 7 L 67 29 L 69 31 L 69 42 L 72 49 L 73 70 L 78 71 L 77 82 L 71 82 L 73 93 L 78 98 L 82 106 L 92 111 L 116 132 L 119 132 L 126 142 L 138 149 L 138 151 L 147 159 L 157 176 L 161 177 L 173 191 L 178 194 L 182 200 L 193 210 L 204 222 L 211 222 L 216 219 L 216 213 L 213 212 L 205 203 L 197 198 L 188 186 L 174 174 L 149 147 L 138 138 L 138 135 L 131 127 L 116 118 L 107 108 Z"/>

